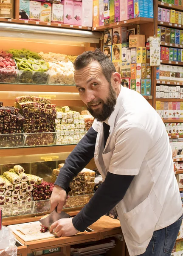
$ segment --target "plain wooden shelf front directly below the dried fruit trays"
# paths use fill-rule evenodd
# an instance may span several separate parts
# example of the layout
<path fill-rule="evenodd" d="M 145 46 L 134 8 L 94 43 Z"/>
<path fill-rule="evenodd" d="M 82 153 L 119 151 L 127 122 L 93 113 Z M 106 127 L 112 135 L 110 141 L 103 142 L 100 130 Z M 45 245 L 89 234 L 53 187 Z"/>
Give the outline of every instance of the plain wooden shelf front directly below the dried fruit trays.
<path fill-rule="evenodd" d="M 0 90 L 5 92 L 56 92 L 78 93 L 75 85 L 50 85 L 50 84 L 1 84 Z"/>

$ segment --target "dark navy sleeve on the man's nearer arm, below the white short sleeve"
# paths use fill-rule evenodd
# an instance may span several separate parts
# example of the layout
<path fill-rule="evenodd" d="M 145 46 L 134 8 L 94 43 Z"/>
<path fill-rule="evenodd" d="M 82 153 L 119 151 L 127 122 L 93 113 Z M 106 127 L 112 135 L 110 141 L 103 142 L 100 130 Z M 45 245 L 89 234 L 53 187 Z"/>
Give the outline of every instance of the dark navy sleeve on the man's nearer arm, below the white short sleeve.
<path fill-rule="evenodd" d="M 135 176 L 107 172 L 89 203 L 73 218 L 73 226 L 83 232 L 88 226 L 109 212 L 121 201 Z"/>

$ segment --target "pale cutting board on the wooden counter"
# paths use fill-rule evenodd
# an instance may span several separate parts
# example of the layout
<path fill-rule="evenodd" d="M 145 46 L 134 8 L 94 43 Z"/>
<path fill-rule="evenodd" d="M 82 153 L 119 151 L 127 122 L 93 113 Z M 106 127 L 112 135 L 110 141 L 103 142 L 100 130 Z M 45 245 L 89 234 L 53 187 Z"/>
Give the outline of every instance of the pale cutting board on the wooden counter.
<path fill-rule="evenodd" d="M 9 225 L 8 228 L 25 242 L 56 237 L 56 234 L 51 234 L 49 231 L 41 233 L 41 223 L 39 221 Z"/>

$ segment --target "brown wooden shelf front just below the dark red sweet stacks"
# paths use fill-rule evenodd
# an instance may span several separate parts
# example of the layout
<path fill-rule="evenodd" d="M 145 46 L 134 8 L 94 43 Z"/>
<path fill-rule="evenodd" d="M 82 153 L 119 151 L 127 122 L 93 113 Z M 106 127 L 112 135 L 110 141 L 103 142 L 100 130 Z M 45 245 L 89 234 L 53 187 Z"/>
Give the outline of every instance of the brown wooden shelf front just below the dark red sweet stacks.
<path fill-rule="evenodd" d="M 0 150 L 0 157 L 71 152 L 75 146 L 76 145 L 53 145 L 31 148 L 5 148 Z"/>

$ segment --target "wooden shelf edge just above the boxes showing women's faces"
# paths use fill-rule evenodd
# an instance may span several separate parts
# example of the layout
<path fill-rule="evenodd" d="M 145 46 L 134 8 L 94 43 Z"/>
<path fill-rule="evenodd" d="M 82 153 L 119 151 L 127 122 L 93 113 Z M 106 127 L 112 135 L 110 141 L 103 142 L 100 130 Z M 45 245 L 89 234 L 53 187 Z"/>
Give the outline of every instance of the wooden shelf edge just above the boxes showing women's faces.
<path fill-rule="evenodd" d="M 117 28 L 119 26 L 127 27 L 127 26 L 133 25 L 133 24 L 140 25 L 140 24 L 145 24 L 145 23 L 150 23 L 150 22 L 153 22 L 152 18 L 138 17 L 138 18 L 134 18 L 134 19 L 130 19 L 130 20 L 124 20 L 124 21 L 119 21 L 116 23 L 107 24 L 104 26 L 93 27 L 92 30 L 93 31 L 104 31 L 105 29 L 113 29 L 113 28 Z"/>

